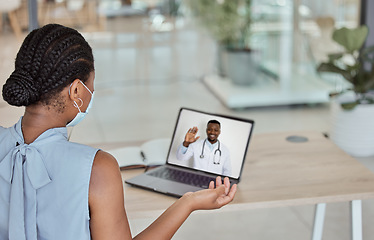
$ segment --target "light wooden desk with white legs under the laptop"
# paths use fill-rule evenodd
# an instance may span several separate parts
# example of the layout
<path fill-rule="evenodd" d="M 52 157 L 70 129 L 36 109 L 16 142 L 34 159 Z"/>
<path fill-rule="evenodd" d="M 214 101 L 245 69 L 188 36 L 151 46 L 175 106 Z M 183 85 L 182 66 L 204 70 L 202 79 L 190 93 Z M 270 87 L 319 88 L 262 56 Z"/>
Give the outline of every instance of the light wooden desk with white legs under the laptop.
<path fill-rule="evenodd" d="M 290 135 L 307 142 L 292 143 Z M 126 170 L 123 179 L 143 170 Z M 175 198 L 125 188 L 130 218 L 160 214 Z M 361 200 L 374 198 L 374 174 L 318 132 L 259 134 L 252 137 L 238 192 L 226 211 L 316 204 L 313 239 L 322 238 L 325 204 L 349 201 L 352 238 L 362 239 Z"/>

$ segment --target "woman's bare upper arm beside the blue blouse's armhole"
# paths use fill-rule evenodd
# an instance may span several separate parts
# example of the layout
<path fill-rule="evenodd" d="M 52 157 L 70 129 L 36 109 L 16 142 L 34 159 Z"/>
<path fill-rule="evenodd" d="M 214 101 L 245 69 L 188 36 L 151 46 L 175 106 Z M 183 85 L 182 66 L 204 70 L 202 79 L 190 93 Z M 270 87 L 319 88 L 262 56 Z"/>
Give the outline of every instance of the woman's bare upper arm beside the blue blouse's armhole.
<path fill-rule="evenodd" d="M 88 203 L 93 240 L 131 239 L 118 162 L 104 151 L 95 156 Z"/>

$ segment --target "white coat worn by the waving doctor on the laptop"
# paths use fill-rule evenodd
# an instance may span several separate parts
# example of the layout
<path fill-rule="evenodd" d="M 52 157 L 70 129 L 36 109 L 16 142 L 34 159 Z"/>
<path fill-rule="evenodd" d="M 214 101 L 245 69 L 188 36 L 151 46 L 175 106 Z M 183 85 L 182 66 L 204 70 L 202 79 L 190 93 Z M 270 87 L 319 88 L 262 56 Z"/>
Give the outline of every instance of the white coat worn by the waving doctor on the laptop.
<path fill-rule="evenodd" d="M 181 144 L 177 150 L 177 159 L 187 161 L 193 157 L 193 167 L 199 170 L 213 172 L 219 175 L 231 175 L 230 152 L 228 148 L 220 142 L 219 151 L 218 143 L 211 144 L 209 141 L 199 139 L 191 143 L 187 148 Z M 203 151 L 204 149 L 204 151 Z M 200 156 L 203 156 L 202 158 Z M 219 164 L 215 164 L 218 163 Z"/>

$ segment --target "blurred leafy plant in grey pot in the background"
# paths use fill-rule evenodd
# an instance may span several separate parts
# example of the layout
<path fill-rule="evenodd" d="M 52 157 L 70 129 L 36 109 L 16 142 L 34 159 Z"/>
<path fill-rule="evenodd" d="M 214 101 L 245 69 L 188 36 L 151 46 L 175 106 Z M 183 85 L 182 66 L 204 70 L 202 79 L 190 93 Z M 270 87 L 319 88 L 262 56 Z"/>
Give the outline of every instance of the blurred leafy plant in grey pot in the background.
<path fill-rule="evenodd" d="M 200 26 L 217 41 L 218 71 L 236 84 L 246 84 L 258 67 L 249 47 L 251 0 L 187 0 Z"/>

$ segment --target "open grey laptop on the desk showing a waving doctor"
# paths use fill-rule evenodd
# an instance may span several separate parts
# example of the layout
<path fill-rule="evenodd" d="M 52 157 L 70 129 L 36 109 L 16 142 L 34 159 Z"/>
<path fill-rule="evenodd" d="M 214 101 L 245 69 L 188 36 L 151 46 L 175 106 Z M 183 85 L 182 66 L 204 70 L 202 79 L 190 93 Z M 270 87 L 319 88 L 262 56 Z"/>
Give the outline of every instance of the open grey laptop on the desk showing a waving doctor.
<path fill-rule="evenodd" d="M 217 176 L 239 183 L 253 127 L 250 119 L 181 108 L 166 164 L 125 182 L 175 197 L 206 189 Z M 198 139 L 183 146 L 186 134 L 196 130 Z"/>

